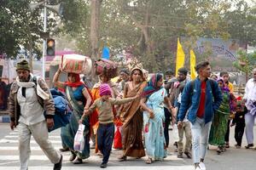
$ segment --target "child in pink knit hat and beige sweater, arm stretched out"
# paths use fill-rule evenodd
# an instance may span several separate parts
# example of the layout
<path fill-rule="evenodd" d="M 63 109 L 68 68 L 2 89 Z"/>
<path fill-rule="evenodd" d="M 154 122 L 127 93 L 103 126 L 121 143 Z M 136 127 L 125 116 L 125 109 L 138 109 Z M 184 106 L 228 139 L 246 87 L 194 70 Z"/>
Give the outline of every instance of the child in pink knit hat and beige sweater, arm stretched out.
<path fill-rule="evenodd" d="M 84 116 L 89 116 L 95 109 L 98 110 L 99 127 L 97 129 L 97 145 L 98 149 L 102 152 L 103 160 L 101 167 L 107 167 L 108 158 L 113 144 L 114 125 L 113 125 L 113 105 L 122 105 L 137 99 L 134 98 L 125 99 L 112 99 L 111 88 L 107 83 L 102 83 L 100 86 L 101 98 L 96 99 L 88 110 L 84 110 L 84 114 L 79 120 L 81 123 Z"/>

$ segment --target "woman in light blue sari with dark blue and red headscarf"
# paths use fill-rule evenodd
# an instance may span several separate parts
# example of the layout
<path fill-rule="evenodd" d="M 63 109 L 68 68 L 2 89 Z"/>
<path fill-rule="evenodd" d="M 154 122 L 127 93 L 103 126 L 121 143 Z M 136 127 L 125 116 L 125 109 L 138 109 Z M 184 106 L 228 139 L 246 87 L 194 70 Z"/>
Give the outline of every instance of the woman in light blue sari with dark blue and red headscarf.
<path fill-rule="evenodd" d="M 172 105 L 167 97 L 166 89 L 163 88 L 163 76 L 154 74 L 148 82 L 148 87 L 143 90 L 143 125 L 146 152 L 148 159 L 152 161 L 163 161 L 166 157 L 166 141 L 164 135 L 165 111 L 164 103 L 171 111 Z"/>

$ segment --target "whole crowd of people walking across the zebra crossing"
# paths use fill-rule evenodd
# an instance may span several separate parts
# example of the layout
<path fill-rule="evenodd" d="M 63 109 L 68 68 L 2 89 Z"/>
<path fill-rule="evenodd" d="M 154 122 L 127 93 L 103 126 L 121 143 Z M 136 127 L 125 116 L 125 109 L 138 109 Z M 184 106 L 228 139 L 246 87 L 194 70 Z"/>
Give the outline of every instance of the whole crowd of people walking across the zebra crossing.
<path fill-rule="evenodd" d="M 83 163 L 90 149 L 102 155 L 100 167 L 108 166 L 114 140 L 115 122 L 121 122 L 122 154 L 119 161 L 128 157 L 142 158 L 151 164 L 163 161 L 170 145 L 169 126 L 177 127 L 174 145 L 177 157 L 183 154 L 192 158 L 195 170 L 205 170 L 209 144 L 216 145 L 221 154 L 230 147 L 230 127 L 235 127 L 236 148 L 246 131 L 247 149 L 253 148 L 253 123 L 256 116 L 256 68 L 248 80 L 243 99 L 233 94 L 229 73 L 212 75 L 210 63 L 195 66 L 198 77 L 190 80 L 189 71 L 180 68 L 177 77 L 172 70 L 152 74 L 148 80 L 144 70 L 135 66 L 129 71 L 121 69 L 119 80 L 112 82 L 108 73 L 99 75 L 92 88 L 80 80 L 79 74 L 67 73 L 67 82 L 53 82 L 67 95 L 73 114 L 66 127 L 61 127 L 62 151 L 70 150 L 69 161 Z M 43 79 L 33 82 L 26 60 L 17 64 L 16 81 L 9 96 L 10 127 L 18 128 L 20 170 L 26 170 L 30 156 L 31 135 L 40 145 L 54 169 L 61 169 L 62 156 L 48 138 L 48 129 L 54 126 L 54 102 Z M 165 80 L 166 77 L 166 80 Z M 148 80 L 148 81 L 147 81 Z M 74 150 L 74 137 L 84 124 L 84 149 Z M 185 136 L 185 144 L 183 144 Z M 91 140 L 91 142 L 90 142 Z"/>

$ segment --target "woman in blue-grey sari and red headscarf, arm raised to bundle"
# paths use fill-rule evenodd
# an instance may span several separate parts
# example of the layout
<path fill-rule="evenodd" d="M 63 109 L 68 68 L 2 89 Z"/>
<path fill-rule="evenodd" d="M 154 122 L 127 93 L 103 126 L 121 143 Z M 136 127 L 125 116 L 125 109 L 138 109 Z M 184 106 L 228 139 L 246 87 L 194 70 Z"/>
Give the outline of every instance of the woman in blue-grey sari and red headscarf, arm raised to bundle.
<path fill-rule="evenodd" d="M 71 120 L 66 127 L 62 129 L 61 137 L 63 142 L 69 150 L 71 150 L 72 155 L 69 161 L 73 161 L 74 164 L 83 163 L 83 159 L 90 156 L 90 122 L 89 118 L 84 119 L 84 150 L 80 153 L 79 151 L 73 150 L 74 137 L 79 129 L 79 119 L 83 115 L 84 111 L 87 111 L 92 103 L 92 97 L 90 90 L 85 87 L 83 82 L 80 82 L 79 74 L 67 73 L 67 82 L 60 82 L 58 78 L 60 76 L 61 70 L 59 69 L 55 73 L 53 82 L 55 87 L 65 89 L 67 94 L 67 100 L 73 108 L 73 114 Z"/>

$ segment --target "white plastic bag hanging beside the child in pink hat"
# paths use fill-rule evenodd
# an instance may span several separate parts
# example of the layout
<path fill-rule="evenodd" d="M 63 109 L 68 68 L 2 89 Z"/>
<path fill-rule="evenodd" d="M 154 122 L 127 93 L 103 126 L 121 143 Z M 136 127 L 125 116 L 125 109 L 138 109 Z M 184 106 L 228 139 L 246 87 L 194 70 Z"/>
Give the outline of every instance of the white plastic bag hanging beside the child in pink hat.
<path fill-rule="evenodd" d="M 75 135 L 74 143 L 73 143 L 73 150 L 79 151 L 82 153 L 84 150 L 84 125 L 79 124 L 78 132 Z"/>

